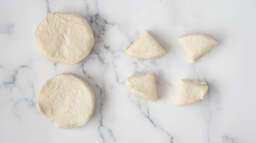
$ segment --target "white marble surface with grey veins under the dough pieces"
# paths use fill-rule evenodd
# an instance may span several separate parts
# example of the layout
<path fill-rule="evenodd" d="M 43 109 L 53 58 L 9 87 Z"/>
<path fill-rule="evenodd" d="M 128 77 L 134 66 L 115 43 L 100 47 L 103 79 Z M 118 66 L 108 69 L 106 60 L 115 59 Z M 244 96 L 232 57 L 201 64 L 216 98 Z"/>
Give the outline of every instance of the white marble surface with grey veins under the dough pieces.
<path fill-rule="evenodd" d="M 249 143 L 256 140 L 256 1 L 6 0 L 0 2 L 0 142 Z M 40 54 L 34 33 L 47 13 L 88 19 L 95 45 L 76 65 Z M 159 59 L 124 52 L 143 30 L 165 49 Z M 195 64 L 177 37 L 203 33 L 218 46 Z M 85 79 L 96 93 L 92 119 L 58 129 L 37 106 L 41 85 L 59 73 Z M 158 102 L 134 97 L 124 79 L 154 73 Z M 173 105 L 179 81 L 198 75 L 209 90 Z"/>

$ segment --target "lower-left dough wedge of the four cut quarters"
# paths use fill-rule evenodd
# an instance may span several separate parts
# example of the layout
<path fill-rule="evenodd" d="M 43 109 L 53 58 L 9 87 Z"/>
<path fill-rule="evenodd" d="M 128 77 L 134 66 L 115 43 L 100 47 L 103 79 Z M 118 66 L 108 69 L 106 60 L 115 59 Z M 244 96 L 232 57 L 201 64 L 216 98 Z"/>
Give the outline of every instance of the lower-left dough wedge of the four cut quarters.
<path fill-rule="evenodd" d="M 126 78 L 125 84 L 131 94 L 136 97 L 154 102 L 158 99 L 153 73 Z"/>

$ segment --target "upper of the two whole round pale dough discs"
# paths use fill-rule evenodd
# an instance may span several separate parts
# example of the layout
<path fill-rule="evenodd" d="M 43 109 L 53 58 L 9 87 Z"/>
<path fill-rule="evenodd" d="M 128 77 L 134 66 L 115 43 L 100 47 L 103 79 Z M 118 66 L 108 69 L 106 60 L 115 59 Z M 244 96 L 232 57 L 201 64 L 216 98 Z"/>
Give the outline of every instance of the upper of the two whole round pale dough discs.
<path fill-rule="evenodd" d="M 37 26 L 35 38 L 49 61 L 74 65 L 90 53 L 93 31 L 85 18 L 69 13 L 51 13 Z"/>

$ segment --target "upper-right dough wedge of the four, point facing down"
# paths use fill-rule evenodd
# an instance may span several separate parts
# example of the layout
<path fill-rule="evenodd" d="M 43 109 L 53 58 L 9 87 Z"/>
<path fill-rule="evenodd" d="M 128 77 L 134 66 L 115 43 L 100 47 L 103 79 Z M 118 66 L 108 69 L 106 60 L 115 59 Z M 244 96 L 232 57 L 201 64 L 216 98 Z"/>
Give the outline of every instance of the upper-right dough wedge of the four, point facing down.
<path fill-rule="evenodd" d="M 182 47 L 189 55 L 192 64 L 217 46 L 217 42 L 203 34 L 188 34 L 178 38 Z"/>

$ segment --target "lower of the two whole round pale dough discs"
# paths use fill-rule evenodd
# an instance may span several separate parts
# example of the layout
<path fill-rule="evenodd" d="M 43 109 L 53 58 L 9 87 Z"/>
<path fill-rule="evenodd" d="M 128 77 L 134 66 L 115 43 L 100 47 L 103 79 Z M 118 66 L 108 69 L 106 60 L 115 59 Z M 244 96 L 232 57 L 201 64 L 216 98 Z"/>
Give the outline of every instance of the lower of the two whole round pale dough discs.
<path fill-rule="evenodd" d="M 37 108 L 57 128 L 72 129 L 87 123 L 93 115 L 95 93 L 82 78 L 62 73 L 46 81 Z"/>

